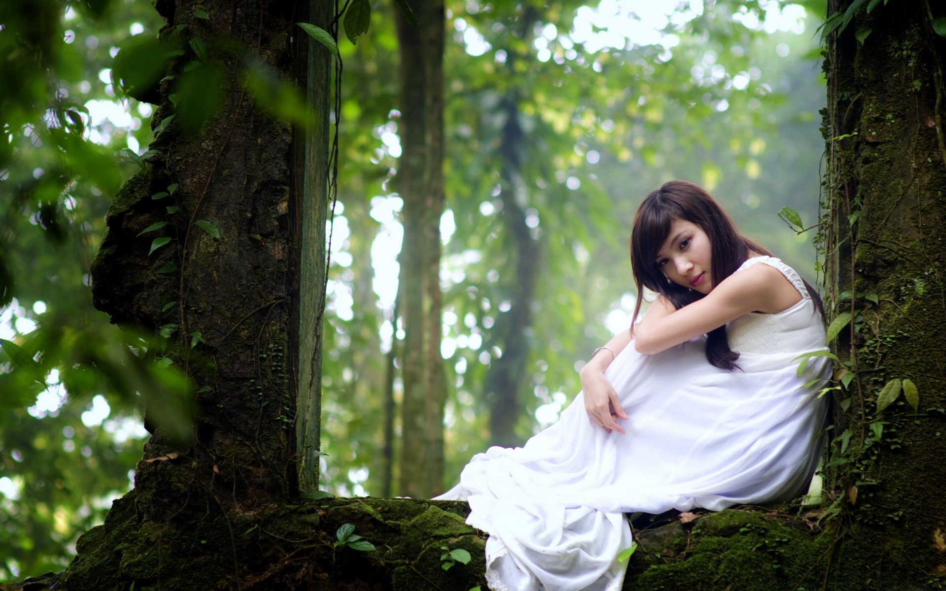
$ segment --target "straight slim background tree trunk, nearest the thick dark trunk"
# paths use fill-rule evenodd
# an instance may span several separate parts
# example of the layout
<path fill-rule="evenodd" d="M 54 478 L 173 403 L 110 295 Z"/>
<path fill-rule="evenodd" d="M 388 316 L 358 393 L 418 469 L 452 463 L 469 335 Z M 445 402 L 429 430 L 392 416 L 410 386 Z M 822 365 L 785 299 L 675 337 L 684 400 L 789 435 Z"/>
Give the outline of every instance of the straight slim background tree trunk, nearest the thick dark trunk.
<path fill-rule="evenodd" d="M 400 494 L 443 490 L 447 374 L 440 354 L 440 217 L 444 209 L 444 3 L 423 0 L 408 25 L 394 7 L 400 41 L 403 152 L 397 188 L 404 200 L 400 305 L 404 315 Z"/>

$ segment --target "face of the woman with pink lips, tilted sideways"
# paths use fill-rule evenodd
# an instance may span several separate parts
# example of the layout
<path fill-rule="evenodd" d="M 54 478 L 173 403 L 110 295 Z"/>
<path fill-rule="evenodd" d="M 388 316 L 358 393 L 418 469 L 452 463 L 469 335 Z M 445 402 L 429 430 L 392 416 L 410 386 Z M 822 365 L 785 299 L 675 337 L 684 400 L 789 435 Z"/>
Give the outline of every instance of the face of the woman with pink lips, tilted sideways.
<path fill-rule="evenodd" d="M 710 236 L 692 221 L 674 219 L 657 252 L 657 269 L 678 286 L 706 294 L 712 289 Z"/>

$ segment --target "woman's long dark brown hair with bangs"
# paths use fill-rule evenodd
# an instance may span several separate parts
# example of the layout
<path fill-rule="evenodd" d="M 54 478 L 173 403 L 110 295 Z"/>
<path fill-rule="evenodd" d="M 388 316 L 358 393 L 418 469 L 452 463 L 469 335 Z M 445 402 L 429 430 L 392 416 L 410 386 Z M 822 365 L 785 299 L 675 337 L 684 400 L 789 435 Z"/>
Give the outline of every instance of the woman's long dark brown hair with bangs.
<path fill-rule="evenodd" d="M 677 310 L 704 296 L 698 291 L 668 281 L 655 262 L 657 252 L 670 235 L 670 228 L 676 219 L 696 224 L 710 238 L 710 281 L 713 287 L 739 269 L 750 251 L 772 255 L 761 245 L 740 235 L 732 218 L 701 187 L 686 181 L 664 183 L 644 198 L 634 216 L 634 228 L 631 231 L 631 269 L 634 272 L 634 283 L 638 287 L 638 301 L 634 305 L 632 326 L 637 322 L 644 287 L 663 295 Z M 821 311 L 821 298 L 818 297 L 817 291 L 807 282 L 805 287 L 815 301 L 815 306 Z M 739 367 L 736 365 L 739 354 L 729 349 L 725 324 L 707 334 L 706 353 L 710 364 L 718 368 L 733 370 Z"/>

